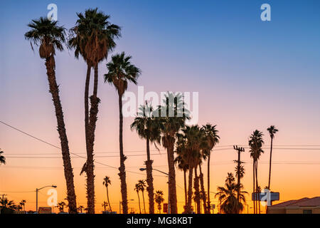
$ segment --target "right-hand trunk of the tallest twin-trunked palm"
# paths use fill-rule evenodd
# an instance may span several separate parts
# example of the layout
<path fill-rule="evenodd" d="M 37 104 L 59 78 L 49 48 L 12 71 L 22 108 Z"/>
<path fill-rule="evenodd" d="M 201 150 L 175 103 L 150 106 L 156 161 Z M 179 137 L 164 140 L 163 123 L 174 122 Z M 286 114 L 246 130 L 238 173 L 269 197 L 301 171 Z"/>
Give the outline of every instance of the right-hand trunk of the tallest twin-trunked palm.
<path fill-rule="evenodd" d="M 88 142 L 87 146 L 87 214 L 95 214 L 95 174 L 94 174 L 94 160 L 93 147 L 95 145 L 95 127 L 97 123 L 97 113 L 99 111 L 98 105 L 100 99 L 97 98 L 98 85 L 98 66 L 95 64 L 95 77 L 93 82 L 93 94 L 90 97 L 90 117 L 89 128 L 87 129 Z"/>

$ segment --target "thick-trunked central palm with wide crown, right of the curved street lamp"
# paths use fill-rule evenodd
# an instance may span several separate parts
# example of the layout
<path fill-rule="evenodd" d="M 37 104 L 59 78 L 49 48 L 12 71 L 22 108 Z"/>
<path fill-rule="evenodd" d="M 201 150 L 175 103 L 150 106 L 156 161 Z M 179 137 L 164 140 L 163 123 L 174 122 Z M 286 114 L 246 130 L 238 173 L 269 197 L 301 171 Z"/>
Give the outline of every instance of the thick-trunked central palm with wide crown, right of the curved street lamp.
<path fill-rule="evenodd" d="M 161 144 L 166 148 L 169 166 L 169 207 L 172 214 L 178 213 L 176 199 L 176 171 L 174 170 L 174 144 L 176 133 L 183 128 L 189 119 L 188 110 L 180 93 L 166 93 L 163 100 L 164 105 L 158 107 L 154 116 L 159 121 L 161 129 Z"/>

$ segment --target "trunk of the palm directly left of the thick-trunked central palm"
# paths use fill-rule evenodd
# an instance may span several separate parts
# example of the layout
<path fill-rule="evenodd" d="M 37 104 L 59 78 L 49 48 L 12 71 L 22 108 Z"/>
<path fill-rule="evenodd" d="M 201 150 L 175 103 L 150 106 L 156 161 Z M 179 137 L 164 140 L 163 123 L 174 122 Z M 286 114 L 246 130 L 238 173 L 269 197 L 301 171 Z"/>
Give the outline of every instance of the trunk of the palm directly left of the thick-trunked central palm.
<path fill-rule="evenodd" d="M 150 159 L 150 145 L 149 138 L 146 139 L 146 183 L 148 187 L 149 197 L 149 214 L 154 214 L 154 178 L 152 177 L 152 163 L 154 161 Z"/>

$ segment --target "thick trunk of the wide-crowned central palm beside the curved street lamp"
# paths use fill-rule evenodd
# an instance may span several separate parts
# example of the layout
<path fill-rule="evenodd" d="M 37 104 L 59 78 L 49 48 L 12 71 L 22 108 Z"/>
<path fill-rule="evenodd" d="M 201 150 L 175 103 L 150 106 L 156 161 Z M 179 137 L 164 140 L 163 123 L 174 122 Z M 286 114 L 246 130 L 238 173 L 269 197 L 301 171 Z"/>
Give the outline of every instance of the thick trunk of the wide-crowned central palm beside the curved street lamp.
<path fill-rule="evenodd" d="M 174 142 L 175 139 L 171 136 L 168 137 L 168 165 L 169 165 L 169 204 L 170 213 L 178 214 L 177 200 L 176 200 L 176 171 L 174 170 Z"/>

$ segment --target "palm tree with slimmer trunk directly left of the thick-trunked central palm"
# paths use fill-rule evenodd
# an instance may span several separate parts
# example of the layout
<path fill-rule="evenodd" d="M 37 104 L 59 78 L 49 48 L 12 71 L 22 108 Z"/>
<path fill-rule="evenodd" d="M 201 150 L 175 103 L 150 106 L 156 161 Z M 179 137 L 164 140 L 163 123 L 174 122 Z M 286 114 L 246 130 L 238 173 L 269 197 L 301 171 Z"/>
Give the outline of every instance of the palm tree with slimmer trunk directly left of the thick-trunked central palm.
<path fill-rule="evenodd" d="M 137 117 L 134 118 L 134 122 L 131 125 L 131 129 L 136 130 L 139 137 L 146 140 L 146 183 L 148 187 L 149 196 L 149 214 L 154 214 L 154 178 L 152 177 L 152 163 L 153 160 L 150 159 L 150 142 L 160 143 L 160 128 L 156 119 L 152 115 L 154 112 L 151 105 L 141 105 L 139 107 L 139 113 Z"/>

